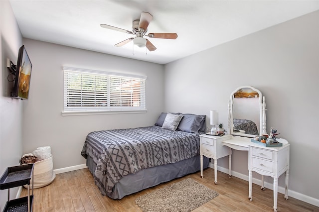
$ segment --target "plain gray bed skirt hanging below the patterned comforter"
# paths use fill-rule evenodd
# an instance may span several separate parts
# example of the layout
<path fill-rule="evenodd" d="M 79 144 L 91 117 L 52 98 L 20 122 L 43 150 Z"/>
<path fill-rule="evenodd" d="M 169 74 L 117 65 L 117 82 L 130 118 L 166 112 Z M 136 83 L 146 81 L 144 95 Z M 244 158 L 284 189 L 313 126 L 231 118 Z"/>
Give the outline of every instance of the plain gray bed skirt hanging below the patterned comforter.
<path fill-rule="evenodd" d="M 86 159 L 86 165 L 93 174 L 96 164 L 89 156 Z M 209 159 L 203 157 L 203 168 L 207 168 L 208 165 Z M 122 199 L 127 195 L 198 171 L 200 171 L 200 155 L 172 164 L 143 169 L 135 174 L 127 175 L 107 195 L 112 199 Z"/>

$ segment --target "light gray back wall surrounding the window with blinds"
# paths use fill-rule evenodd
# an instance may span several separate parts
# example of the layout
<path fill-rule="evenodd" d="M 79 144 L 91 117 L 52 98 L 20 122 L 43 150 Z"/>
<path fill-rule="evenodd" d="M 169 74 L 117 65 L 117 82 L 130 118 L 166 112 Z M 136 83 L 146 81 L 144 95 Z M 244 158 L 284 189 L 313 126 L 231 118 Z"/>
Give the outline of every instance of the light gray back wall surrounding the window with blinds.
<path fill-rule="evenodd" d="M 23 153 L 51 146 L 53 168 L 85 164 L 81 150 L 91 131 L 154 125 L 163 110 L 163 65 L 30 39 L 30 93 L 23 102 Z M 63 66 L 147 76 L 146 113 L 62 116 Z"/>

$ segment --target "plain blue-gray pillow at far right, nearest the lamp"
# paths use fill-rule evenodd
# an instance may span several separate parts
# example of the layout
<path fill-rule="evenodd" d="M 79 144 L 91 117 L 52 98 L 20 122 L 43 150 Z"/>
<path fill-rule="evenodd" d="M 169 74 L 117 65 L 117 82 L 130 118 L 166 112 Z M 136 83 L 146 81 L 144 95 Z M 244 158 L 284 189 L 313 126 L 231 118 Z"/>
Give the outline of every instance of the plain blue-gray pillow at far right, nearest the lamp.
<path fill-rule="evenodd" d="M 184 132 L 205 131 L 205 115 L 195 114 L 183 114 L 183 118 L 180 120 L 177 130 Z"/>

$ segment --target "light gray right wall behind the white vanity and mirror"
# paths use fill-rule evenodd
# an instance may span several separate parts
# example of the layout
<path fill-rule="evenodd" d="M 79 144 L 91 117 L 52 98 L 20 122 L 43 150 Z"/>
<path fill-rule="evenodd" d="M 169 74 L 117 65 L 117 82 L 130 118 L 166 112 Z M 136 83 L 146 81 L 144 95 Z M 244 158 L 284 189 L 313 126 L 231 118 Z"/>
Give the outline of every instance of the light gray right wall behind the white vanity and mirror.
<path fill-rule="evenodd" d="M 290 192 L 318 204 L 318 80 L 316 11 L 166 64 L 165 110 L 209 117 L 209 110 L 216 109 L 219 121 L 227 123 L 230 94 L 244 85 L 259 89 L 266 97 L 267 132 L 274 126 L 291 144 Z M 248 175 L 247 157 L 234 150 L 232 170 Z M 227 162 L 222 158 L 218 165 L 228 169 Z M 279 186 L 285 187 L 284 176 Z"/>

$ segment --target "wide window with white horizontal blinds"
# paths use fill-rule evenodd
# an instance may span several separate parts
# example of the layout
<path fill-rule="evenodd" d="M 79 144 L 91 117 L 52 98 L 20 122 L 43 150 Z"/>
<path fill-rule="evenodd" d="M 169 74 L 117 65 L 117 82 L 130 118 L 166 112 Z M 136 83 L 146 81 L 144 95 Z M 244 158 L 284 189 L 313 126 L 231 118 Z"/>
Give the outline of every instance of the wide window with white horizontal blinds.
<path fill-rule="evenodd" d="M 146 110 L 145 76 L 63 69 L 64 114 Z"/>

